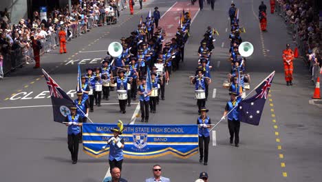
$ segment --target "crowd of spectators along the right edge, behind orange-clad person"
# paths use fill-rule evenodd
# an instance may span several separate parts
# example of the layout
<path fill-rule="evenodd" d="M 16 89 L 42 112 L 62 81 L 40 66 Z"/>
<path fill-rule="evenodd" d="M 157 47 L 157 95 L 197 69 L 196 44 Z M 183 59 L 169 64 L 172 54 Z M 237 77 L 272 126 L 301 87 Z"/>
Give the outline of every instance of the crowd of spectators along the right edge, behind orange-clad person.
<path fill-rule="evenodd" d="M 277 3 L 281 8 L 280 15 L 285 15 L 286 23 L 293 27 L 293 41 L 299 46 L 302 56 L 307 58 L 310 71 L 314 74 L 314 65 L 322 66 L 322 36 L 314 1 L 277 0 Z"/>

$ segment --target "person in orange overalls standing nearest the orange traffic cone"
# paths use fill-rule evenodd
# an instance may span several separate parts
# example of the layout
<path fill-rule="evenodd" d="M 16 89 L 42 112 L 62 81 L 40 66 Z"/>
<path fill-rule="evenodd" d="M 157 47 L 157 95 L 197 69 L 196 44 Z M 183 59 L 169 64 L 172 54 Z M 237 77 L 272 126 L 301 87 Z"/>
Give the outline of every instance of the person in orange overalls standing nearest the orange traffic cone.
<path fill-rule="evenodd" d="M 293 85 L 293 59 L 294 54 L 290 49 L 290 44 L 286 44 L 286 50 L 283 50 L 283 63 L 286 85 Z"/>

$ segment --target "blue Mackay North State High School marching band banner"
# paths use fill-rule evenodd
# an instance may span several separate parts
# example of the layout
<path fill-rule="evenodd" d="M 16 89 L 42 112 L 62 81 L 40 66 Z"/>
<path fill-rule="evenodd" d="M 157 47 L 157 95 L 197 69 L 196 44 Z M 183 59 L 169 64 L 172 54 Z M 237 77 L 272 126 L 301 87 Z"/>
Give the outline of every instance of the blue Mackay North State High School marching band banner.
<path fill-rule="evenodd" d="M 103 147 L 116 124 L 83 123 L 83 151 L 95 158 L 109 154 Z M 125 158 L 150 159 L 173 154 L 187 159 L 198 152 L 197 125 L 128 125 L 120 135 Z"/>

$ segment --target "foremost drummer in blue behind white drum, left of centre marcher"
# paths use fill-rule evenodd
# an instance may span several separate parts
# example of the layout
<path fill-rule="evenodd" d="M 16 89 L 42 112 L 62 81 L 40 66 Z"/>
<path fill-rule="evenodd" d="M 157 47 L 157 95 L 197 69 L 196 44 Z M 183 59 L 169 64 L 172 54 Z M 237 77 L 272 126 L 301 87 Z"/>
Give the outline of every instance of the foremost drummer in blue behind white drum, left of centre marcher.
<path fill-rule="evenodd" d="M 116 83 L 117 90 L 126 90 L 127 91 L 127 83 L 131 83 L 131 79 L 124 77 L 125 70 L 119 69 L 118 70 L 118 77 L 113 78 L 111 77 L 111 83 Z M 120 105 L 120 112 L 125 114 L 125 108 L 127 107 L 127 99 L 125 100 L 118 100 Z"/>

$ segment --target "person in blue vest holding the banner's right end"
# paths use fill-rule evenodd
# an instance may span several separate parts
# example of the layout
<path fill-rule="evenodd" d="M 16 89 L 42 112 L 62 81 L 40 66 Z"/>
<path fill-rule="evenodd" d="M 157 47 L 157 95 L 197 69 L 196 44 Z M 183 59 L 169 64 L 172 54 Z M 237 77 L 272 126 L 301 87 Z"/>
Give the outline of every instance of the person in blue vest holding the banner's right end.
<path fill-rule="evenodd" d="M 204 165 L 208 165 L 208 146 L 210 141 L 209 128 L 211 128 L 211 119 L 206 115 L 206 112 L 208 112 L 206 108 L 202 107 L 198 112 L 201 113 L 200 117 L 197 119 L 199 128 L 199 162 L 202 163 L 202 160 L 204 160 Z"/>

